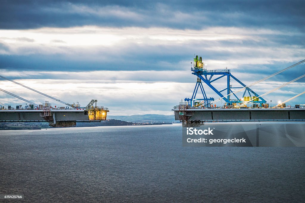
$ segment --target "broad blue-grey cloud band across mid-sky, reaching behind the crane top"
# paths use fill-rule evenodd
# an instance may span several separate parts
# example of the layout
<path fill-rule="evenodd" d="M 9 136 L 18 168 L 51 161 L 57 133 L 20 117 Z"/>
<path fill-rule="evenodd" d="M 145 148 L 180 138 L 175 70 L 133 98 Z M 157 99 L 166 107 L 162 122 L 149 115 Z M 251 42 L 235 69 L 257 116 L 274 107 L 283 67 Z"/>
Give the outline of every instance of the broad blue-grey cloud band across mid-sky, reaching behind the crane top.
<path fill-rule="evenodd" d="M 4 48 L 8 48 L 3 45 Z M 285 50 L 286 49 L 286 50 Z M 193 54 L 199 54 L 203 61 L 227 61 L 227 64 L 209 63 L 210 69 L 229 67 L 241 73 L 270 75 L 274 70 L 288 67 L 300 61 L 304 51 L 295 51 L 294 45 L 282 45 L 270 41 L 256 44 L 245 40 L 243 43 L 230 41 L 197 41 L 195 44 L 137 45 L 99 47 L 94 50 L 66 54 L 0 55 L 0 69 L 34 71 L 138 71 L 138 70 L 186 70 L 190 67 Z M 298 47 L 302 50 L 302 47 Z M 30 48 L 27 48 L 30 50 Z M 88 51 L 88 53 L 86 53 Z M 290 52 L 290 53 L 287 53 Z M 284 57 L 284 58 L 282 58 Z M 249 60 L 249 61 L 248 61 Z M 251 61 L 260 60 L 260 61 Z M 277 60 L 277 61 L 275 61 Z M 237 62 L 236 62 L 237 61 Z M 235 64 L 235 65 L 234 65 Z M 295 74 L 301 74 L 296 69 Z M 143 79 L 145 80 L 145 79 Z M 156 79 L 157 80 L 157 79 Z"/>

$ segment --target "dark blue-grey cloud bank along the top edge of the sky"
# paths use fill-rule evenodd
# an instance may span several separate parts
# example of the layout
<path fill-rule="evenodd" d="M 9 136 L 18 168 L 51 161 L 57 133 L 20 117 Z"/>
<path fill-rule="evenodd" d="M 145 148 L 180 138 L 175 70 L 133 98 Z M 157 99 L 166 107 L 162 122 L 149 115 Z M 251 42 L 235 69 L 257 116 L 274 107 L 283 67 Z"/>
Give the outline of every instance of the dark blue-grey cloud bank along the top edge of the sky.
<path fill-rule="evenodd" d="M 297 27 L 304 31 L 301 1 L 1 1 L 1 29 L 142 26 Z"/>

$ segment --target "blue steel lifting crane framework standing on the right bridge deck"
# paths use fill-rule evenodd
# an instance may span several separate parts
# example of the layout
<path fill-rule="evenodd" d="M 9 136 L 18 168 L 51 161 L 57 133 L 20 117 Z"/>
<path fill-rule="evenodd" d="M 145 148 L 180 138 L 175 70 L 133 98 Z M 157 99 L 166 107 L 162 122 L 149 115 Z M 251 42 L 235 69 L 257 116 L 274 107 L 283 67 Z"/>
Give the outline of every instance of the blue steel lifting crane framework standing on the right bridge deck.
<path fill-rule="evenodd" d="M 201 57 L 200 57 L 201 58 Z M 198 56 L 196 56 L 196 58 L 194 58 L 194 61 L 196 62 L 198 60 Z M 197 83 L 192 95 L 192 98 L 185 98 L 185 101 L 188 101 L 188 104 L 190 106 L 194 105 L 195 100 L 202 100 L 202 104 L 204 103 L 203 106 L 209 106 L 211 101 L 214 101 L 214 98 L 208 99 L 206 96 L 206 93 L 203 89 L 203 85 L 201 83 L 201 81 L 205 82 L 207 86 L 209 86 L 215 93 L 217 93 L 221 98 L 223 97 L 224 101 L 228 104 L 228 105 L 233 105 L 233 103 L 243 103 L 244 101 L 239 99 L 235 93 L 233 93 L 232 89 L 239 89 L 239 88 L 243 88 L 246 87 L 246 85 L 244 83 L 242 83 L 239 79 L 235 78 L 231 72 L 230 69 L 223 69 L 223 70 L 206 70 L 204 69 L 203 65 L 200 64 L 200 66 L 197 65 L 198 63 L 196 62 L 196 64 L 194 64 L 194 67 L 191 67 L 191 71 L 193 75 L 197 76 Z M 213 79 L 213 76 L 217 75 L 218 77 Z M 211 83 L 215 82 L 218 79 L 221 79 L 222 77 L 227 77 L 227 87 L 221 91 L 218 91 Z M 230 81 L 231 79 L 234 79 L 236 82 L 238 82 L 240 85 L 242 85 L 242 87 L 232 87 L 232 85 L 230 85 Z M 196 98 L 196 94 L 198 91 L 198 88 L 200 87 L 202 95 L 203 95 L 203 99 L 195 99 Z M 221 92 L 226 91 L 226 97 L 224 95 L 222 95 Z M 236 98 L 236 99 L 231 99 L 230 95 L 233 93 L 232 95 Z M 259 103 L 260 106 L 262 106 L 262 104 L 266 103 L 266 100 L 264 100 L 263 98 L 259 97 L 259 95 L 257 93 L 255 93 L 252 89 L 250 89 L 249 87 L 245 88 L 245 91 L 242 95 L 242 98 L 244 98 L 245 94 L 248 93 L 249 96 L 256 96 L 258 99 L 258 101 L 253 101 L 253 103 Z M 251 94 L 252 93 L 252 94 Z"/>

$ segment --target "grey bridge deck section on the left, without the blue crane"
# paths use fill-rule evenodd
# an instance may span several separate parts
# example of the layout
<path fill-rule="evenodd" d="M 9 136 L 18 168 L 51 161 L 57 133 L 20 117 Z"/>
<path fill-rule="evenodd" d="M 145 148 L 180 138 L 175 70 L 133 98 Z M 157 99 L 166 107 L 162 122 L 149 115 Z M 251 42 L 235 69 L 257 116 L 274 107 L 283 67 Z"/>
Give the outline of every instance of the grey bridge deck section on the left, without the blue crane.
<path fill-rule="evenodd" d="M 0 122 L 48 122 L 40 116 L 43 110 L 0 110 Z M 88 122 L 88 110 L 51 110 L 53 120 Z"/>

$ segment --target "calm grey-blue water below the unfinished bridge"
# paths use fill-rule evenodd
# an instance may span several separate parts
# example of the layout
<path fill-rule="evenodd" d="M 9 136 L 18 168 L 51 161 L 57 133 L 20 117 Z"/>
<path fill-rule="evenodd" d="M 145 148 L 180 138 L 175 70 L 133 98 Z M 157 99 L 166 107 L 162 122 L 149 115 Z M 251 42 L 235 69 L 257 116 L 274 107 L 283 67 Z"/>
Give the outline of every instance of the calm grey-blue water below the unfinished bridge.
<path fill-rule="evenodd" d="M 45 202 L 303 202 L 305 148 L 182 147 L 181 125 L 0 131 L 0 193 Z"/>

